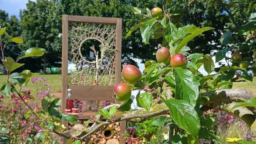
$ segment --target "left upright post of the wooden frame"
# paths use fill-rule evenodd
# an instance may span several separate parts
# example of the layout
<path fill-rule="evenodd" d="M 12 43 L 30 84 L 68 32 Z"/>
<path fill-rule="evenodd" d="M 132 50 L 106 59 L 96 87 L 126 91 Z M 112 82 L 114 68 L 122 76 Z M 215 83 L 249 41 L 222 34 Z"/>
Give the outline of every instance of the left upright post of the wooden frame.
<path fill-rule="evenodd" d="M 68 15 L 62 15 L 62 112 L 65 112 L 68 89 Z M 67 122 L 62 122 L 68 128 Z"/>

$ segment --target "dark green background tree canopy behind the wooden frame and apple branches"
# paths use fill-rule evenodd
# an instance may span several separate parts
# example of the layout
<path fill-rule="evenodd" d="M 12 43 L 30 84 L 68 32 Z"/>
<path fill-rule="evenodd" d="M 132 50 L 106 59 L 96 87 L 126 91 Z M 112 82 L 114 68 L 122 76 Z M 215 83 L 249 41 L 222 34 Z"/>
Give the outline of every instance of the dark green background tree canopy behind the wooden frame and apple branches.
<path fill-rule="evenodd" d="M 218 2 L 226 6 L 238 26 L 241 26 L 250 17 L 250 14 L 255 11 L 256 5 L 256 2 L 251 0 L 194 2 L 180 22 L 184 25 L 211 26 L 215 29 L 205 32 L 204 37 L 196 37 L 193 42 L 190 42 L 188 44 L 190 52 L 214 54 L 217 51 L 213 50 L 229 47 L 222 46 L 219 38 L 227 31 L 234 32 L 236 26 L 230 14 Z M 166 5 L 166 7 L 179 10 L 184 9 L 188 3 L 189 0 L 174 0 L 172 5 Z M 8 14 L 1 11 L 1 27 L 9 25 L 9 33 L 16 32 L 23 37 L 25 43 L 20 48 L 40 47 L 47 50 L 42 58 L 30 58 L 33 59 L 33 63 L 27 67 L 33 71 L 43 69 L 42 63 L 44 62 L 45 67 L 60 66 L 62 14 L 122 18 L 122 62 L 136 65 L 133 58 L 142 59 L 142 62 L 149 59 L 154 60 L 152 54 L 156 52 L 157 44 L 162 41 L 161 39 L 152 40 L 148 45 L 143 45 L 139 31 L 132 32 L 131 37 L 125 39 L 130 27 L 139 23 L 133 14 L 133 7 L 161 7 L 158 0 L 37 0 L 36 2 L 28 1 L 26 6 L 27 9 L 20 11 L 20 21 L 15 16 L 8 18 Z M 243 37 L 235 37 L 238 37 L 235 43 L 242 44 Z M 13 49 L 14 47 L 10 48 L 11 51 Z M 53 55 L 54 57 L 52 57 Z M 29 61 L 28 59 L 28 63 Z"/>

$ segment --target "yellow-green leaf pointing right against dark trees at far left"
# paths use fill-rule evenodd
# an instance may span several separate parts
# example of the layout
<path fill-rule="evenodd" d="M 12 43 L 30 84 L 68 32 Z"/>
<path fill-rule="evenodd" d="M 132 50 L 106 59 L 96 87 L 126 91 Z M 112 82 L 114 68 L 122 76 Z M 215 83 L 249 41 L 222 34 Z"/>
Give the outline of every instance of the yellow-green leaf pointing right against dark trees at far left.
<path fill-rule="evenodd" d="M 36 57 L 36 56 L 43 56 L 45 54 L 45 49 L 41 48 L 30 48 L 26 51 L 23 51 L 18 57 L 17 61 L 27 57 Z"/>

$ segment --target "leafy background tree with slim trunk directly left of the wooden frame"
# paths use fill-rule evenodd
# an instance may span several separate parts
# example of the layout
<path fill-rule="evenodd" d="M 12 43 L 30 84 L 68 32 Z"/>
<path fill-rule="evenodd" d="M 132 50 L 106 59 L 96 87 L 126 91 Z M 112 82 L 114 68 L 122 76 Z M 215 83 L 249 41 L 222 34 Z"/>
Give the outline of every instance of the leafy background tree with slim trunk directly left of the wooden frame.
<path fill-rule="evenodd" d="M 25 43 L 23 49 L 40 47 L 46 49 L 43 58 L 27 59 L 30 67 L 60 67 L 61 61 L 61 11 L 57 1 L 37 0 L 28 1 L 27 9 L 20 11 L 20 27 Z M 35 58 L 34 58 L 35 59 Z M 43 63 L 43 65 L 42 65 Z M 35 70 L 35 69 L 34 69 Z"/>

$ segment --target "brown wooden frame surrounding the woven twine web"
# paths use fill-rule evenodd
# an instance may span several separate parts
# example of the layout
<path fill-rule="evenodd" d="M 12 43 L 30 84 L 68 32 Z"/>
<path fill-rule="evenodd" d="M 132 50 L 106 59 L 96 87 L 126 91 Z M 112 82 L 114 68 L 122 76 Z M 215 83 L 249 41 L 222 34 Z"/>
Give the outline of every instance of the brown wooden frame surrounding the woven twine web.
<path fill-rule="evenodd" d="M 116 45 L 115 45 L 115 83 L 121 82 L 121 50 L 122 50 L 122 19 L 107 18 L 107 17 L 88 17 L 62 15 L 62 112 L 66 107 L 67 89 L 72 89 L 72 97 L 78 100 L 113 100 L 111 94 L 114 86 L 78 86 L 68 85 L 68 26 L 69 23 L 96 23 L 96 24 L 112 24 L 116 25 Z M 86 93 L 86 95 L 84 95 Z M 106 97 L 104 97 L 106 96 Z M 115 100 L 115 103 L 120 103 Z M 95 116 L 95 113 L 84 113 L 78 115 L 77 119 L 90 119 L 90 116 Z M 65 124 L 66 127 L 67 123 Z M 121 134 L 124 134 L 126 122 L 121 122 Z M 124 144 L 125 139 L 120 136 L 120 144 Z"/>

